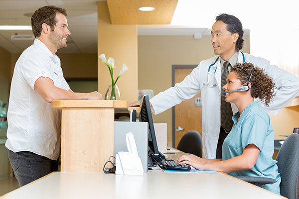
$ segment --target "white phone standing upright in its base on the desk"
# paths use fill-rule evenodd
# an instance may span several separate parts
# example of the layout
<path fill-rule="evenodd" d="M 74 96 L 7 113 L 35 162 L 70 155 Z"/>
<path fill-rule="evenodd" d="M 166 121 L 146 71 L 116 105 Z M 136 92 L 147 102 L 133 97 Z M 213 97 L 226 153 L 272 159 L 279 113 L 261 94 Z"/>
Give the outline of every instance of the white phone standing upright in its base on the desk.
<path fill-rule="evenodd" d="M 143 175 L 141 159 L 138 156 L 138 151 L 133 133 L 126 134 L 126 143 L 129 152 L 120 151 L 116 154 L 116 175 Z"/>

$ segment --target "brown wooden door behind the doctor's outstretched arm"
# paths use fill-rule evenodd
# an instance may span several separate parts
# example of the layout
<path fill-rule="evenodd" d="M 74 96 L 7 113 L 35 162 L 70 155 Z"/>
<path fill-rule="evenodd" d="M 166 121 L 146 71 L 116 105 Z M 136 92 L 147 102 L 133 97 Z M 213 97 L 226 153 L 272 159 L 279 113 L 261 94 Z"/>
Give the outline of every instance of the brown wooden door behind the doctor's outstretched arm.
<path fill-rule="evenodd" d="M 174 82 L 180 83 L 184 78 L 192 72 L 193 68 L 174 68 Z M 175 148 L 181 137 L 188 131 L 196 130 L 202 136 L 202 120 L 201 106 L 195 106 L 194 98 L 200 98 L 198 93 L 190 100 L 182 101 L 174 107 L 174 139 Z M 181 127 L 184 130 L 177 131 L 176 128 Z M 173 139 L 172 139 L 173 140 Z"/>

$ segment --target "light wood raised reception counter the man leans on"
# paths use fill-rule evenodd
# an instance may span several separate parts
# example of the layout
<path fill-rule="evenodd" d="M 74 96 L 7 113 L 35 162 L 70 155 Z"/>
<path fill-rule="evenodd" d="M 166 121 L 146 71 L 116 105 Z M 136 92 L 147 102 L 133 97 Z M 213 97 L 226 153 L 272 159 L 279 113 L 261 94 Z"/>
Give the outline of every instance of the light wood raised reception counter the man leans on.
<path fill-rule="evenodd" d="M 102 172 L 114 153 L 115 110 L 125 100 L 54 100 L 61 109 L 61 171 Z"/>

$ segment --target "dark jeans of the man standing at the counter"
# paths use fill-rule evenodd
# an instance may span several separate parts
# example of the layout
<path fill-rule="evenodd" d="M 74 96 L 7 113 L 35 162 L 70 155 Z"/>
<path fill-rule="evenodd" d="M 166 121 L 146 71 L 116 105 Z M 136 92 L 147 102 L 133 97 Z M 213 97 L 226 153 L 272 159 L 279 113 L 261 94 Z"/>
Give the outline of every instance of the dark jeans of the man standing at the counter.
<path fill-rule="evenodd" d="M 58 170 L 58 161 L 29 151 L 13 153 L 8 150 L 8 158 L 20 187 Z"/>

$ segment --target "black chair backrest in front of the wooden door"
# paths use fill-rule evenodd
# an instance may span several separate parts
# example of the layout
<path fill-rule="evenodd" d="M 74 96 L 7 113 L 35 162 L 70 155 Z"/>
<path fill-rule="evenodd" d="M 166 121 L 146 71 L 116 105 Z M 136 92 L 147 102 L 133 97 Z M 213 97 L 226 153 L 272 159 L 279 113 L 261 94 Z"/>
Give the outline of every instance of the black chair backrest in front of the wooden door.
<path fill-rule="evenodd" d="M 189 131 L 183 135 L 177 149 L 202 157 L 201 136 L 197 131 Z"/>

